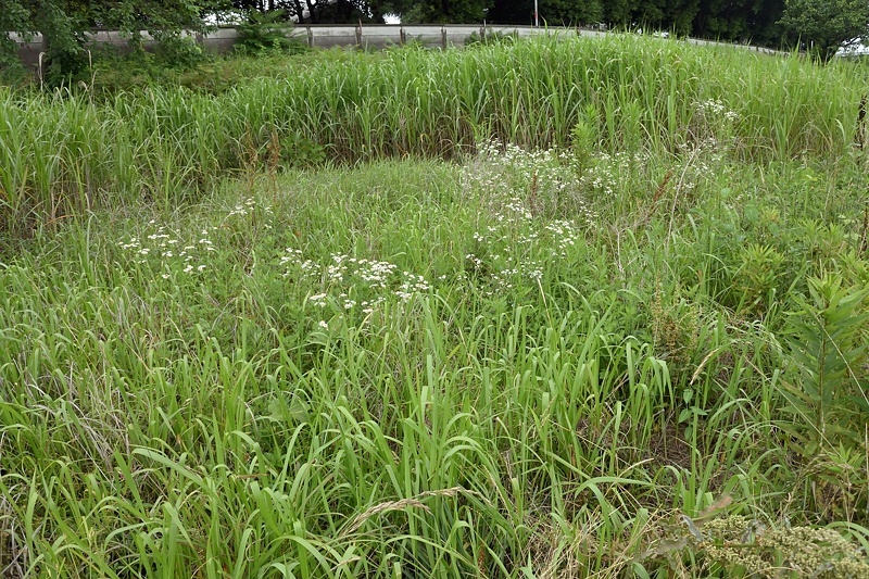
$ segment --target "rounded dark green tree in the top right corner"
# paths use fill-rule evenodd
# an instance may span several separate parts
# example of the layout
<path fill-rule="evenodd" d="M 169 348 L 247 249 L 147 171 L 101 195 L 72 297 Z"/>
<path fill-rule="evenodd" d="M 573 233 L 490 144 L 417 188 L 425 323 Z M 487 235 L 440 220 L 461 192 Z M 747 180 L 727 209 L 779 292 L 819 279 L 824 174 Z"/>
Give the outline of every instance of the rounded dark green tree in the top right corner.
<path fill-rule="evenodd" d="M 829 61 L 840 47 L 855 43 L 869 32 L 866 0 L 788 0 L 781 26 L 798 38 L 809 53 Z"/>

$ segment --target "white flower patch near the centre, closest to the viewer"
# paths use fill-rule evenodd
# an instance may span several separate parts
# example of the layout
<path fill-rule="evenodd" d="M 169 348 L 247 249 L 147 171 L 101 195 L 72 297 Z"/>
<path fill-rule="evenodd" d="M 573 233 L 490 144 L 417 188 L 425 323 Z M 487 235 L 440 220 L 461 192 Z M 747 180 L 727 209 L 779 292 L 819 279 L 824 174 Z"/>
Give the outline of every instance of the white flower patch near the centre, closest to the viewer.
<path fill-rule="evenodd" d="M 345 311 L 358 307 L 363 313 L 370 314 L 390 294 L 406 302 L 431 289 L 424 276 L 403 272 L 394 263 L 377 260 L 332 254 L 331 263 L 319 264 L 303 260 L 301 250 L 288 248 L 280 264 L 286 266 L 284 277 L 319 281 L 324 291 L 310 295 L 307 300 L 320 307 L 332 302 Z"/>

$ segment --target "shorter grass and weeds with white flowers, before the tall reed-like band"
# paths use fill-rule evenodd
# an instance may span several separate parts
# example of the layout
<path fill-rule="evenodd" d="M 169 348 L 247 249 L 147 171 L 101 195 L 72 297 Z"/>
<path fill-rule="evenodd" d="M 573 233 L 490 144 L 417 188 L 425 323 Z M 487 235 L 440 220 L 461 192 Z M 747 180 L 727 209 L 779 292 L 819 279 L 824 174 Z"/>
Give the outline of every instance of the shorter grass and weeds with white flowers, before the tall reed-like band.
<path fill-rule="evenodd" d="M 866 544 L 865 159 L 755 160 L 721 105 L 672 151 L 580 124 L 37 234 L 0 267 L 5 572 L 730 576 L 739 515 Z M 738 553 L 829 558 L 782 532 Z"/>

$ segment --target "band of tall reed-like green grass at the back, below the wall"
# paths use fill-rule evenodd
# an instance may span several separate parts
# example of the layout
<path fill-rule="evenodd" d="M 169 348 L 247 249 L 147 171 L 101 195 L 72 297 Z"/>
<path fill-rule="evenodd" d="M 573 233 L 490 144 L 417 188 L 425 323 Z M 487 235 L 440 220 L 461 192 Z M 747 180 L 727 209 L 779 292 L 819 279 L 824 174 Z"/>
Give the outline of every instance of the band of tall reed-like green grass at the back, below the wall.
<path fill-rule="evenodd" d="M 25 232 L 95 204 L 166 202 L 268 159 L 454 156 L 480 138 L 566 146 L 594 127 L 609 152 L 679 152 L 707 137 L 697 108 L 740 115 L 745 159 L 842 152 L 861 75 L 798 56 L 614 35 L 324 58 L 217 97 L 147 88 L 109 102 L 0 92 L 0 207 Z M 269 151 L 270 147 L 270 153 Z"/>

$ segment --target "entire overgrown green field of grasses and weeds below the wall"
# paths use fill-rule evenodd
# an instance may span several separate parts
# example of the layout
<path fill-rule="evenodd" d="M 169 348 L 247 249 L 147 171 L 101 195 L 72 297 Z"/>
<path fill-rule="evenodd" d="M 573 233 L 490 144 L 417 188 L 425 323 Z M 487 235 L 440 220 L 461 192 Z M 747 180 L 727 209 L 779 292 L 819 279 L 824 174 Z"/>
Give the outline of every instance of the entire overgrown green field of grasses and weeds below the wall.
<path fill-rule="evenodd" d="M 0 93 L 0 572 L 867 576 L 858 65 L 305 59 Z"/>

